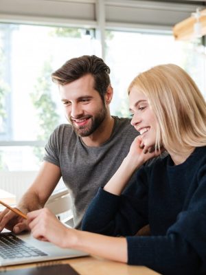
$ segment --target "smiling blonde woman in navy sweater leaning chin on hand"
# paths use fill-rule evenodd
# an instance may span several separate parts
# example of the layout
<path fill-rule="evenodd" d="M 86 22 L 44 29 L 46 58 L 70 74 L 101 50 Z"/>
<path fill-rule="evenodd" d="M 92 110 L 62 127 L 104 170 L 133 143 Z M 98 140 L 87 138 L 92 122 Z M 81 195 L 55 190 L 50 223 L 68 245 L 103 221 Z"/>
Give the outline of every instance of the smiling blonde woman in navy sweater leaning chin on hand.
<path fill-rule="evenodd" d="M 48 210 L 28 214 L 32 234 L 162 274 L 205 274 L 205 100 L 192 78 L 172 64 L 137 76 L 128 94 L 131 123 L 140 135 L 84 216 L 82 229 L 100 234 L 69 230 Z M 168 155 L 142 166 L 162 150 Z M 126 188 L 137 169 L 137 180 Z M 148 223 L 151 236 L 137 236 Z"/>

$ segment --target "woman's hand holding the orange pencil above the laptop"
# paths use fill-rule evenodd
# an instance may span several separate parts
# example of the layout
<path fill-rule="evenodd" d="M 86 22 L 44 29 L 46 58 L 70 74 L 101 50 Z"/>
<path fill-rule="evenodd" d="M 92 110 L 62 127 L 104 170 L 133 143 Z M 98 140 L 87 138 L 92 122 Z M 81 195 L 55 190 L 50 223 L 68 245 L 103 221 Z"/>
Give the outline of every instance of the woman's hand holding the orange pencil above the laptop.
<path fill-rule="evenodd" d="M 28 213 L 27 222 L 34 238 L 40 241 L 50 241 L 60 248 L 71 247 L 74 237 L 73 229 L 66 228 L 49 209 L 43 208 Z"/>

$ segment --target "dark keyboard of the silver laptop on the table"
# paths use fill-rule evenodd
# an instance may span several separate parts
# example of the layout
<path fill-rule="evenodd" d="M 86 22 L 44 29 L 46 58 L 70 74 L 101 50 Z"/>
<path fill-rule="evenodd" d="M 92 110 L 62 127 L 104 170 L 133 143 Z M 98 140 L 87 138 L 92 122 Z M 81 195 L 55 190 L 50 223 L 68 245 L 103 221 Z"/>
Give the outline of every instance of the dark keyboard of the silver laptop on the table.
<path fill-rule="evenodd" d="M 29 243 L 25 243 L 12 233 L 0 234 L 0 256 L 3 259 L 45 256 L 45 252 L 38 250 Z"/>

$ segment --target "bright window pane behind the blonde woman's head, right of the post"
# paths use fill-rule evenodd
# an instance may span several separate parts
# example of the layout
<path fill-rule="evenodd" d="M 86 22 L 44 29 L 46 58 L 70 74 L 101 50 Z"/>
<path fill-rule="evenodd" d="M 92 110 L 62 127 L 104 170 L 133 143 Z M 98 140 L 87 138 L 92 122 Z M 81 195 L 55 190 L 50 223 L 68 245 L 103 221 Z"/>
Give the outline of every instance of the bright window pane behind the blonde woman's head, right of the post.
<path fill-rule="evenodd" d="M 106 32 L 106 62 L 115 88 L 112 113 L 128 115 L 126 89 L 131 80 L 150 67 L 174 63 L 183 67 L 205 94 L 205 58 L 197 43 L 177 42 L 172 35 Z"/>

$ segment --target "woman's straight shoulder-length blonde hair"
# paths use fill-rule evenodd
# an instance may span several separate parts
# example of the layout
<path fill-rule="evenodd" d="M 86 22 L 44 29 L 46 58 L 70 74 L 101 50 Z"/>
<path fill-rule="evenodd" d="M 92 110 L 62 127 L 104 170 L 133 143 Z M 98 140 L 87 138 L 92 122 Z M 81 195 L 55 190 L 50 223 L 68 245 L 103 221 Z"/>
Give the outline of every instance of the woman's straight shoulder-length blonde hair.
<path fill-rule="evenodd" d="M 157 118 L 156 148 L 187 153 L 206 145 L 206 102 L 194 80 L 181 67 L 159 65 L 139 74 L 130 86 L 148 98 Z"/>

